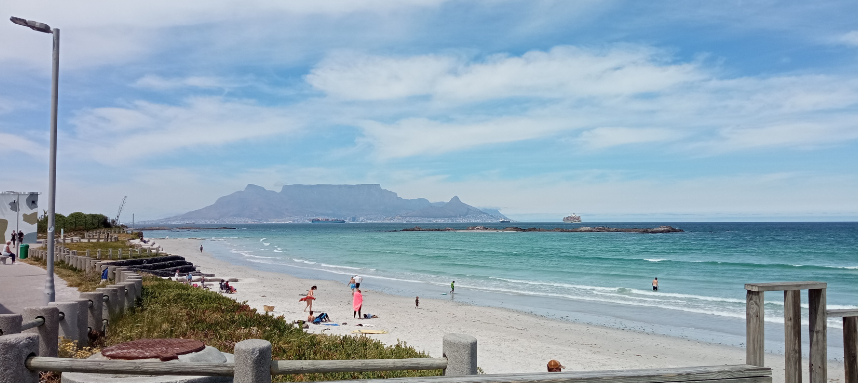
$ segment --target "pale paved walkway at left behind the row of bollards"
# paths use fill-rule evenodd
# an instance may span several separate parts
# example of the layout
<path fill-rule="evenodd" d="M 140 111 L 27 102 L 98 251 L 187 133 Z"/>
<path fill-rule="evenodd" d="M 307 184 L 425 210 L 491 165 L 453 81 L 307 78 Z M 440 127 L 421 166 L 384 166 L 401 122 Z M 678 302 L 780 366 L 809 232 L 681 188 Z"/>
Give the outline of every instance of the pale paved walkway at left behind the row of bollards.
<path fill-rule="evenodd" d="M 42 306 L 45 303 L 45 269 L 18 261 L 14 265 L 0 263 L 0 314 L 20 314 L 24 307 Z M 54 276 L 56 301 L 78 299 L 76 288 Z"/>

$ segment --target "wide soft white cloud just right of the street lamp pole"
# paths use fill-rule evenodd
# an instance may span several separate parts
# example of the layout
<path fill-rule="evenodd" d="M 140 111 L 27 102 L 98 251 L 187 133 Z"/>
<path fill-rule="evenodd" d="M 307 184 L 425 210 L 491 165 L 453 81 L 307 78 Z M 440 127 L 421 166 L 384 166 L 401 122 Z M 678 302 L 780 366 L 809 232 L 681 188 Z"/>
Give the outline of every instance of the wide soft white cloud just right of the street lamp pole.
<path fill-rule="evenodd" d="M 76 149 L 70 154 L 108 163 L 219 147 L 303 126 L 286 110 L 222 98 L 190 98 L 180 106 L 137 101 L 126 107 L 88 109 L 72 124 L 76 129 L 71 146 Z"/>

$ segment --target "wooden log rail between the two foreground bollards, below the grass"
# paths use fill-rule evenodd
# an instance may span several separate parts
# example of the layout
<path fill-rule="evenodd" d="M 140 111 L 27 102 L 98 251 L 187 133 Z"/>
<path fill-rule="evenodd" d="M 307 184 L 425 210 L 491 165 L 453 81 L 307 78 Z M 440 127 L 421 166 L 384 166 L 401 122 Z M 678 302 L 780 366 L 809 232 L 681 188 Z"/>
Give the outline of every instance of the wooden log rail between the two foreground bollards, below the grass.
<path fill-rule="evenodd" d="M 272 375 L 445 369 L 447 369 L 447 358 L 275 360 L 271 362 Z"/>

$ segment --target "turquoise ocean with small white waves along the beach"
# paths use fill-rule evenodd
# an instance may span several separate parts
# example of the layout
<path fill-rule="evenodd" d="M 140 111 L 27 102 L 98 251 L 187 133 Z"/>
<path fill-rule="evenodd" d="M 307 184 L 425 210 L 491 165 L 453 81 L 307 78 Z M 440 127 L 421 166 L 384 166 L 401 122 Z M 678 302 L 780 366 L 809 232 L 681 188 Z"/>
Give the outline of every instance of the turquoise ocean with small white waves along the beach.
<path fill-rule="evenodd" d="M 464 229 L 475 224 L 419 224 Z M 489 227 L 578 227 L 564 223 Z M 241 224 L 150 231 L 201 238 L 237 265 L 421 299 L 505 307 L 560 320 L 744 346 L 744 284 L 828 283 L 828 308 L 858 307 L 858 223 L 585 223 L 684 233 L 400 232 L 415 224 Z M 203 226 L 206 225 L 196 225 Z M 211 225 L 222 226 L 222 225 Z M 659 280 L 659 291 L 651 281 Z M 456 293 L 448 294 L 456 282 Z M 783 352 L 783 293 L 765 296 L 766 350 Z M 807 294 L 802 294 L 807 325 Z M 842 359 L 830 319 L 829 358 Z M 807 329 L 803 332 L 807 342 Z M 807 354 L 808 347 L 803 347 Z"/>

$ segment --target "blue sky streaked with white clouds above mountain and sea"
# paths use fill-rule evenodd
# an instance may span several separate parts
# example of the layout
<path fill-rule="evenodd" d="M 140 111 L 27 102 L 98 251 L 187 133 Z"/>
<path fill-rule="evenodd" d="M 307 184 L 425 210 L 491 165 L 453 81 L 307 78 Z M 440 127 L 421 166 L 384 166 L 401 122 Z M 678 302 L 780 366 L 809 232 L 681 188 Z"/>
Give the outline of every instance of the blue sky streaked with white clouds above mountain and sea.
<path fill-rule="evenodd" d="M 521 221 L 858 220 L 854 1 L 0 10 L 61 30 L 63 214 L 371 183 Z M 44 199 L 50 63 L 50 35 L 0 22 L 0 189 Z"/>

